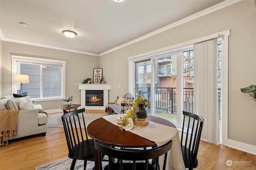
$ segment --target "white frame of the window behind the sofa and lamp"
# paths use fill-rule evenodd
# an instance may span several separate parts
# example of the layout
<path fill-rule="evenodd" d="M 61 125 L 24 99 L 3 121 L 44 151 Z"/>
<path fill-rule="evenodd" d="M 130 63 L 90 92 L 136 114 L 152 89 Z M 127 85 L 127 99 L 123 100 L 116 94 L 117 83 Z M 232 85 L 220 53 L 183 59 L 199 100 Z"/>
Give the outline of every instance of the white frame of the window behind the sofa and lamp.
<path fill-rule="evenodd" d="M 26 62 L 26 63 L 42 63 L 42 64 L 56 64 L 62 65 L 61 70 L 61 95 L 60 97 L 50 97 L 50 98 L 35 98 L 35 101 L 50 101 L 50 100 L 60 100 L 64 99 L 66 96 L 66 61 L 59 61 L 59 60 L 51 60 L 51 59 L 41 59 L 41 58 L 34 58 L 34 57 L 24 57 L 24 56 L 17 56 L 11 55 L 12 59 L 12 94 L 16 93 L 15 83 L 13 83 L 14 74 L 16 74 L 16 62 Z M 42 96 L 42 94 L 40 94 Z"/>

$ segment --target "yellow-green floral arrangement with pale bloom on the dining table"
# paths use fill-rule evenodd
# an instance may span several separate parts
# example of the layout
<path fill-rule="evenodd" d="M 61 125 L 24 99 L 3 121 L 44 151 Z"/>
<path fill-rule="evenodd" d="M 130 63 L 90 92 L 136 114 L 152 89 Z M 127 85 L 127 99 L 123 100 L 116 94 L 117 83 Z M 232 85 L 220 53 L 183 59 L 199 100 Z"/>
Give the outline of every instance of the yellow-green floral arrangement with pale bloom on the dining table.
<path fill-rule="evenodd" d="M 142 98 L 142 96 L 137 95 L 137 98 L 135 100 L 129 99 L 126 100 L 126 103 L 126 107 L 130 107 L 130 110 L 128 110 L 128 112 L 124 114 L 123 117 L 120 117 L 120 120 L 122 120 L 122 122 L 120 123 L 119 129 L 121 131 L 127 125 L 129 125 L 129 123 L 131 123 L 130 119 L 132 119 L 134 123 L 141 105 L 143 105 L 143 107 L 148 106 L 149 101 L 147 99 Z"/>

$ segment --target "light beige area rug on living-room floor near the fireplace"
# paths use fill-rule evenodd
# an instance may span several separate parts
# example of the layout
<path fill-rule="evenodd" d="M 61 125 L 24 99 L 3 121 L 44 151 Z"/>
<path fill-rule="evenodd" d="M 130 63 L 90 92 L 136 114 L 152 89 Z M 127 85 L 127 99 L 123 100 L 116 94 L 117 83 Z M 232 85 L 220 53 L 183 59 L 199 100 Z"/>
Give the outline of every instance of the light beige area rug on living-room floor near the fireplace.
<path fill-rule="evenodd" d="M 108 115 L 108 113 L 83 113 L 84 114 L 84 120 L 85 120 L 85 125 L 86 127 L 91 123 L 92 121 Z M 61 116 L 63 113 L 57 113 L 54 115 L 49 115 L 48 117 L 48 127 L 63 127 Z M 75 117 L 76 121 L 78 121 L 78 117 Z M 79 116 L 80 120 L 82 118 L 82 115 Z"/>

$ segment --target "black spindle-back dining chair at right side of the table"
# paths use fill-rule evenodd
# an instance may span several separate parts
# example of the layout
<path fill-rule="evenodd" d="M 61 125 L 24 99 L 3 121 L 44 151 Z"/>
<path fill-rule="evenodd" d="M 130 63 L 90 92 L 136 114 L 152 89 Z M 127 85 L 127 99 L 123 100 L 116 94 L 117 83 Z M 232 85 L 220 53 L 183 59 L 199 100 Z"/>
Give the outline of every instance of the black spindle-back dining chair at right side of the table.
<path fill-rule="evenodd" d="M 197 153 L 204 119 L 188 111 L 183 111 L 183 115 L 180 145 L 185 168 L 192 170 L 198 166 Z"/>

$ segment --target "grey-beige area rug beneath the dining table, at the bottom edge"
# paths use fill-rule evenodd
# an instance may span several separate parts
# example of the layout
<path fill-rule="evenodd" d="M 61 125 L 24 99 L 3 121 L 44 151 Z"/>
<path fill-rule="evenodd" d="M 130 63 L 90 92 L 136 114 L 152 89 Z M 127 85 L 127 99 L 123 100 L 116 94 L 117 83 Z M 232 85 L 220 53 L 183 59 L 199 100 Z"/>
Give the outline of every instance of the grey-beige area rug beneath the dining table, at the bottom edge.
<path fill-rule="evenodd" d="M 72 163 L 72 159 L 65 157 L 48 164 L 44 164 L 36 167 L 36 170 L 69 170 Z M 102 167 L 105 167 L 108 162 L 102 162 Z M 94 167 L 94 162 L 87 161 L 86 170 L 92 170 Z M 74 170 L 83 170 L 84 169 L 84 161 L 76 160 L 76 165 Z"/>

